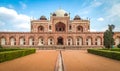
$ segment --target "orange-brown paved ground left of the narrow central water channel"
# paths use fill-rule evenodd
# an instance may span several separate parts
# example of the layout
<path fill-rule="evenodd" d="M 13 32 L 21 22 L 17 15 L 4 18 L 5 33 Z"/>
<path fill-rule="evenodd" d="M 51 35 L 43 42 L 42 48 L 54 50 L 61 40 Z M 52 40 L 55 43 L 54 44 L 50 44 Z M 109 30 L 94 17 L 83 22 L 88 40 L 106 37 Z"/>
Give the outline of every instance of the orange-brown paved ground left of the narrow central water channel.
<path fill-rule="evenodd" d="M 0 71 L 54 71 L 59 51 L 40 50 L 35 54 L 0 63 Z"/>

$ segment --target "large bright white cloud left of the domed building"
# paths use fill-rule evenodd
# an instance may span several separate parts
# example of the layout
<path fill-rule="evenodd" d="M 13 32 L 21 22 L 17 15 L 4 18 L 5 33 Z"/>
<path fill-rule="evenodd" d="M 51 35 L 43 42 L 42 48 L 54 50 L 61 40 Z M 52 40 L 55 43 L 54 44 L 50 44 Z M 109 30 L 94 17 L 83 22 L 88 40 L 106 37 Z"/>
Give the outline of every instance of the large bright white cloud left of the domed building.
<path fill-rule="evenodd" d="M 14 9 L 0 7 L 0 22 L 6 25 L 4 28 L 11 27 L 11 29 L 14 28 L 17 31 L 30 30 L 30 17 L 24 14 L 18 14 Z"/>

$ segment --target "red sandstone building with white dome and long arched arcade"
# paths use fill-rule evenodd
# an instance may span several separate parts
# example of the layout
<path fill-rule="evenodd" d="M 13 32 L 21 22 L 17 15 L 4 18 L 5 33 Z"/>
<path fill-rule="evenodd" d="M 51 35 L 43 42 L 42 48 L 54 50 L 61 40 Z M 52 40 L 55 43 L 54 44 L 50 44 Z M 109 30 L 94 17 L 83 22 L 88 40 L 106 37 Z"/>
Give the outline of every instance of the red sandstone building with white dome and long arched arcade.
<path fill-rule="evenodd" d="M 120 44 L 120 32 L 114 34 L 115 45 Z M 59 9 L 50 20 L 41 16 L 31 21 L 31 32 L 0 32 L 4 46 L 103 46 L 103 32 L 90 32 L 90 21 Z"/>

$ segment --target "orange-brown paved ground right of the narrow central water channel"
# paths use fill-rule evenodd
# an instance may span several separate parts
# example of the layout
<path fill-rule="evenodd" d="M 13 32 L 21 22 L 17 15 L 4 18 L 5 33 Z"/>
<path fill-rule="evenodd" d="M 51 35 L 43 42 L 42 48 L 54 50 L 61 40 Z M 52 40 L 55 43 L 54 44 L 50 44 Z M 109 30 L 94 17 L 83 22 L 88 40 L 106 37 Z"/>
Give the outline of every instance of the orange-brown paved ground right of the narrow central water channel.
<path fill-rule="evenodd" d="M 83 50 L 62 51 L 65 71 L 120 71 L 120 61 Z"/>

